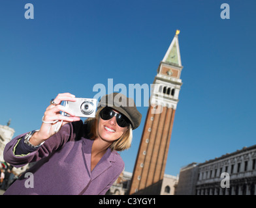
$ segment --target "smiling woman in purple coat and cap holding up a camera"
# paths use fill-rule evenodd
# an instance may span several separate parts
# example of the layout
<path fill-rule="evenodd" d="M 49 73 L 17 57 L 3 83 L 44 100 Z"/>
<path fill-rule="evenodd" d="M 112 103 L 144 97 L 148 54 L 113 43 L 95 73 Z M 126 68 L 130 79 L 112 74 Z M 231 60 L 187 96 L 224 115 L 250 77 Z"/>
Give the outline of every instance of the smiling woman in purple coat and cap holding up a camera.
<path fill-rule="evenodd" d="M 132 129 L 141 120 L 133 99 L 118 93 L 104 96 L 95 118 L 84 123 L 61 101 L 76 98 L 59 94 L 44 112 L 39 131 L 16 136 L 5 147 L 5 161 L 12 166 L 38 161 L 5 194 L 105 194 L 123 171 L 116 151 L 129 148 Z M 57 133 L 56 120 L 63 121 Z"/>

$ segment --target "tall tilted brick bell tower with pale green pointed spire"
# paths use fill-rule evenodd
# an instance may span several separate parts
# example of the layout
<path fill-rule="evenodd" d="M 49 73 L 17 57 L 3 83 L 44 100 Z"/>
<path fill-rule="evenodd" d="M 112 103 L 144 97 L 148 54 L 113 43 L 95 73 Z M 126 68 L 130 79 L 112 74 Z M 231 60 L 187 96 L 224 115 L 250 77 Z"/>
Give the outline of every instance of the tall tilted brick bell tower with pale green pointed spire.
<path fill-rule="evenodd" d="M 174 114 L 182 86 L 179 33 L 177 30 L 153 81 L 155 85 L 150 98 L 151 105 L 140 140 L 129 194 L 160 194 Z"/>

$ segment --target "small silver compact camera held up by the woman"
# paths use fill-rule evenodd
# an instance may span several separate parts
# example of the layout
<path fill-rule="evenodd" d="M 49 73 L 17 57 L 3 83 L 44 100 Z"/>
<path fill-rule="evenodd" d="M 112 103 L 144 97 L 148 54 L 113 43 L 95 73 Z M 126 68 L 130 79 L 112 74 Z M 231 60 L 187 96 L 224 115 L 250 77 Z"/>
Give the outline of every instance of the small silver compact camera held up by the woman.
<path fill-rule="evenodd" d="M 77 117 L 94 118 L 97 108 L 97 99 L 76 98 L 75 102 L 66 101 L 65 107 L 71 110 Z"/>

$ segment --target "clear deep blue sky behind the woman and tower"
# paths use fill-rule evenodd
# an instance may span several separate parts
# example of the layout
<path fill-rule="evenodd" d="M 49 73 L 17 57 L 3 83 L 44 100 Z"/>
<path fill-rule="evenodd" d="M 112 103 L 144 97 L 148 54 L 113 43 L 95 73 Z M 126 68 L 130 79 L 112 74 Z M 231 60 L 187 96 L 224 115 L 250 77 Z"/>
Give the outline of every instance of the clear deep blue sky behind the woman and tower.
<path fill-rule="evenodd" d="M 25 19 L 26 3 L 34 19 Z M 221 19 L 229 3 L 230 19 Z M 14 136 L 39 129 L 60 92 L 92 98 L 93 86 L 153 83 L 176 29 L 182 57 L 179 103 L 166 174 L 256 144 L 256 1 L 0 2 L 0 124 Z M 133 172 L 148 107 L 131 149 Z"/>

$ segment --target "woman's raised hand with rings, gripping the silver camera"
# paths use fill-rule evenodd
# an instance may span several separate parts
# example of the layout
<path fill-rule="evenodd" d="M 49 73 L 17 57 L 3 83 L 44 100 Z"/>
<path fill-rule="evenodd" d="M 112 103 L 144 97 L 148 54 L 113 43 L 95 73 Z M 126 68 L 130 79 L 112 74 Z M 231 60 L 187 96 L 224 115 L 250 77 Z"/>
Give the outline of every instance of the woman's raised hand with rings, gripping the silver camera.
<path fill-rule="evenodd" d="M 76 98 L 74 95 L 70 93 L 58 94 L 57 97 L 54 99 L 54 103 L 56 104 L 49 105 L 46 111 L 44 112 L 44 122 L 54 122 L 56 120 L 59 120 L 59 122 L 61 120 L 63 121 L 59 129 L 66 123 L 76 122 L 80 120 L 79 117 L 74 116 L 72 112 L 65 109 L 63 105 L 60 105 L 61 101 L 74 102 L 76 101 Z M 63 116 L 59 111 L 66 112 L 70 116 Z M 40 130 L 34 133 L 34 135 L 30 138 L 29 142 L 34 146 L 38 146 L 39 144 L 50 138 L 50 136 L 56 134 L 54 128 L 58 124 L 59 123 L 42 123 Z"/>

